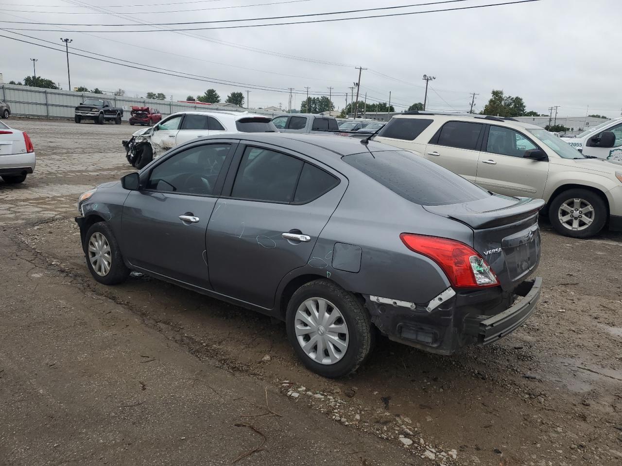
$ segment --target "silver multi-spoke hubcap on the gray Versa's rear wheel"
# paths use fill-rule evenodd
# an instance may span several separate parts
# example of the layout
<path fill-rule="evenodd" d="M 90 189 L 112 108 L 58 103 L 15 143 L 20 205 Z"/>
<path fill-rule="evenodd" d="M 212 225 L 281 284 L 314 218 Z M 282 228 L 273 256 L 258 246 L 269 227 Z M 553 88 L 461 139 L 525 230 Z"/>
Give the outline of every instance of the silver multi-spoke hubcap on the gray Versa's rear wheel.
<path fill-rule="evenodd" d="M 348 326 L 339 309 L 323 298 L 300 304 L 294 319 L 296 339 L 315 362 L 334 364 L 348 349 Z"/>

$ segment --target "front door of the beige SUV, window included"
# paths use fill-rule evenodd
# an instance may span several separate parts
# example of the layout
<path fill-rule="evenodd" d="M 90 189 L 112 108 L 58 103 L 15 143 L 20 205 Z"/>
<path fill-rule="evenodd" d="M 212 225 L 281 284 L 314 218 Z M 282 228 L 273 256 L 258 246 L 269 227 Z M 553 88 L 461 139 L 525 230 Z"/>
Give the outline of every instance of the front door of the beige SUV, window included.
<path fill-rule="evenodd" d="M 541 198 L 549 162 L 523 157 L 527 150 L 536 148 L 526 135 L 490 125 L 480 152 L 476 183 L 493 193 Z"/>

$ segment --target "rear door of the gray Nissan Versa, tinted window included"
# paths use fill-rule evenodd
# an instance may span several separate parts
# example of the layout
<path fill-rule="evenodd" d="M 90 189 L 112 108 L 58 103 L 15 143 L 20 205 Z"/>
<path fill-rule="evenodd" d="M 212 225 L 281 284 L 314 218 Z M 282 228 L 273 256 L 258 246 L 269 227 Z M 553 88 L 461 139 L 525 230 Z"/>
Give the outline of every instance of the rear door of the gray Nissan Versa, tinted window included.
<path fill-rule="evenodd" d="M 304 155 L 241 143 L 208 224 L 213 290 L 271 309 L 282 278 L 313 260 L 346 185 L 342 175 Z M 318 263 L 325 273 L 325 262 Z"/>

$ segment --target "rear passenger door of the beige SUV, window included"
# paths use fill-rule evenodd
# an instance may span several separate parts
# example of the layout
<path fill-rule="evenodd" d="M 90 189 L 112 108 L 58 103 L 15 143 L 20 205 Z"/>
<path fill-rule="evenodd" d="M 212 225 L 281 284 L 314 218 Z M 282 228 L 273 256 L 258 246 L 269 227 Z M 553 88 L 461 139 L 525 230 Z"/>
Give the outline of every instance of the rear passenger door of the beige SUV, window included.
<path fill-rule="evenodd" d="M 425 147 L 424 157 L 475 182 L 484 125 L 448 121 Z"/>

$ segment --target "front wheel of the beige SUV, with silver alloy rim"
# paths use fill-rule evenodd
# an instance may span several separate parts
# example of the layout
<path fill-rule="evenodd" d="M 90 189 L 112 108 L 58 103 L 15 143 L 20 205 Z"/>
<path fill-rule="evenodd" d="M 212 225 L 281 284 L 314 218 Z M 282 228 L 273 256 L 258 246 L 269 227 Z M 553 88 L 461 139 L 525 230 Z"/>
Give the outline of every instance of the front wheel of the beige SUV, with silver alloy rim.
<path fill-rule="evenodd" d="M 589 207 L 592 211 L 585 212 Z M 598 234 L 605 226 L 607 216 L 605 201 L 593 191 L 582 188 L 564 191 L 549 204 L 549 220 L 554 229 L 572 238 L 587 238 Z M 567 217 L 570 218 L 564 222 Z M 575 226 L 577 229 L 572 229 Z"/>

